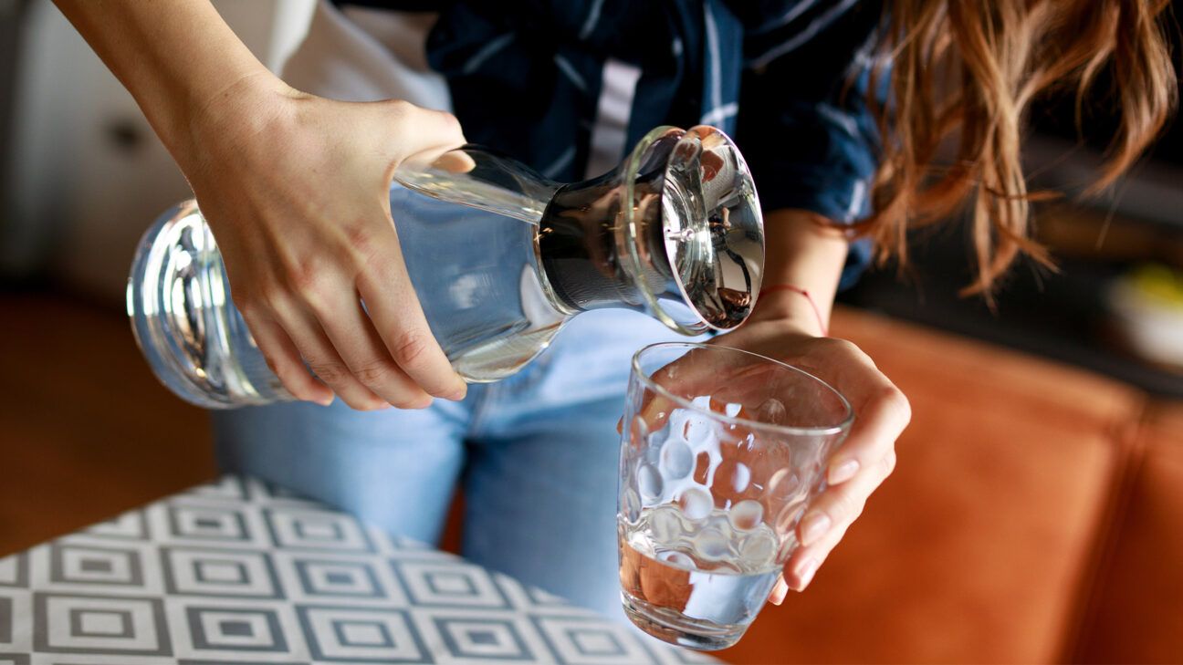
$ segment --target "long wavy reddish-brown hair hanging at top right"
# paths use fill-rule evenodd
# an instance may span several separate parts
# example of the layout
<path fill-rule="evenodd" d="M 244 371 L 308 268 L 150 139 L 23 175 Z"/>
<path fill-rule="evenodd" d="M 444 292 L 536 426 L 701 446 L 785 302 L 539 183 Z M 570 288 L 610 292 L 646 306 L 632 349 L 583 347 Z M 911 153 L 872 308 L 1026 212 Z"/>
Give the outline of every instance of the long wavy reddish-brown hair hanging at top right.
<path fill-rule="evenodd" d="M 892 102 L 875 105 L 883 155 L 874 213 L 859 226 L 880 262 L 907 262 L 909 230 L 971 206 L 977 278 L 988 298 L 1020 252 L 1051 265 L 1029 235 L 1020 159 L 1024 115 L 1053 88 L 1074 89 L 1077 120 L 1110 67 L 1120 130 L 1090 193 L 1113 183 L 1162 131 L 1177 101 L 1165 19 L 1169 0 L 894 0 L 886 2 L 883 58 L 871 90 L 890 77 Z M 1174 25 L 1174 22 L 1171 24 Z M 891 62 L 890 73 L 883 63 Z M 953 159 L 938 156 L 951 142 Z M 948 147 L 943 154 L 948 155 Z M 938 163 L 939 160 L 939 163 Z"/>

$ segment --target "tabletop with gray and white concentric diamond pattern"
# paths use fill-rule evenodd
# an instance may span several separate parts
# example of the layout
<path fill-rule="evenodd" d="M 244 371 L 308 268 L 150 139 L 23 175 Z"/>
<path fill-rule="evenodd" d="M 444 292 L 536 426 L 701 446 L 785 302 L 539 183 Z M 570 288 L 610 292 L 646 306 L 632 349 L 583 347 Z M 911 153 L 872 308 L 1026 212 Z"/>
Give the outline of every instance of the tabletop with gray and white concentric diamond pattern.
<path fill-rule="evenodd" d="M 713 661 L 253 478 L 0 559 L 0 665 Z"/>

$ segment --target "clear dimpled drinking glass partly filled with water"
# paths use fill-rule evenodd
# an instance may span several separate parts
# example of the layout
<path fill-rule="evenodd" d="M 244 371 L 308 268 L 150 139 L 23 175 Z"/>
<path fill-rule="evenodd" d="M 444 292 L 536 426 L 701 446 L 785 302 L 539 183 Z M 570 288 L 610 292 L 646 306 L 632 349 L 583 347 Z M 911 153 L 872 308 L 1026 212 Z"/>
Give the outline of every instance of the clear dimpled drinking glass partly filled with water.
<path fill-rule="evenodd" d="M 812 374 L 717 344 L 633 356 L 621 421 L 621 601 L 661 640 L 731 646 L 797 547 L 854 415 Z"/>

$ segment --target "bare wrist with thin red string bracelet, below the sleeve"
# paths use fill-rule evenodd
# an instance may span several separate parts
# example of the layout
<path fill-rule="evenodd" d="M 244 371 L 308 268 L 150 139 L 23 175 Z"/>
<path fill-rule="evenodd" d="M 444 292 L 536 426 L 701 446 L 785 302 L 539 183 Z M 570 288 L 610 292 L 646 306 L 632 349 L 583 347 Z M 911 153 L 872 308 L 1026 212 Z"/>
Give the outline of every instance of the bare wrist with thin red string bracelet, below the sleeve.
<path fill-rule="evenodd" d="M 809 298 L 791 290 L 769 291 L 757 301 L 751 319 L 786 319 L 820 335 L 829 325 L 848 243 L 841 230 L 808 211 L 775 211 L 764 221 L 763 288 L 787 284 L 807 291 Z"/>

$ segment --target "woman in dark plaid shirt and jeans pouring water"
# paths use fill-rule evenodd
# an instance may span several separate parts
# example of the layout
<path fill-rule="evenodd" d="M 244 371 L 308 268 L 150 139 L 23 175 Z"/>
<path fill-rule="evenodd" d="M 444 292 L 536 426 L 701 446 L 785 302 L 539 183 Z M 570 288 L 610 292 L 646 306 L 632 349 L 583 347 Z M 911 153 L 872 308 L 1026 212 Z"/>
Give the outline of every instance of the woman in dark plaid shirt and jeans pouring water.
<path fill-rule="evenodd" d="M 852 239 L 905 258 L 907 228 L 972 205 L 970 290 L 989 295 L 1017 252 L 1046 260 L 1026 235 L 1019 160 L 1032 98 L 1082 90 L 1112 66 L 1123 125 L 1098 186 L 1137 157 L 1175 102 L 1159 0 L 407 2 L 439 15 L 422 46 L 405 31 L 422 17 L 387 31 L 399 35 L 388 50 L 411 52 L 392 67 L 429 64 L 455 115 L 296 90 L 207 2 L 58 4 L 188 176 L 235 303 L 305 400 L 218 414 L 224 466 L 427 541 L 460 482 L 466 556 L 606 612 L 619 606 L 614 425 L 627 357 L 668 334 L 628 312 L 588 314 L 523 373 L 466 387 L 400 258 L 387 189 L 402 159 L 466 134 L 565 181 L 615 164 L 657 124 L 736 136 L 765 207 L 765 290 L 750 321 L 718 341 L 813 368 L 858 418 L 801 522 L 802 547 L 772 592 L 780 602 L 808 586 L 891 473 L 910 417 L 865 354 L 826 336 L 835 291 L 870 258 Z M 373 50 L 393 25 L 381 11 L 349 12 L 357 24 L 318 8 L 342 33 L 369 21 L 341 50 Z M 305 50 L 293 62 L 306 75 L 331 57 Z M 337 75 L 319 80 L 350 72 Z M 425 95 L 421 104 L 448 103 Z M 946 140 L 955 157 L 938 163 Z"/>

